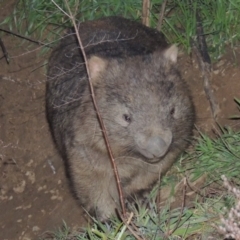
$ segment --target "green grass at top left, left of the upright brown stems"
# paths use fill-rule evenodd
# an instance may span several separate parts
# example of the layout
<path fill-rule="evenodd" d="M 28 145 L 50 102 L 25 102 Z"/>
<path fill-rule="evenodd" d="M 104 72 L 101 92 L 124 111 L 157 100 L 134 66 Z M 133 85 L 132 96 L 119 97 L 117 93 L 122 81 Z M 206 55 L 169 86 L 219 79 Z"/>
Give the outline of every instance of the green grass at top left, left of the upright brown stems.
<path fill-rule="evenodd" d="M 68 0 L 67 2 L 79 22 L 113 15 L 133 19 L 141 17 L 141 0 Z M 35 35 L 42 38 L 47 33 L 47 39 L 56 38 L 56 35 L 72 26 L 69 17 L 60 9 L 68 13 L 65 1 L 19 0 L 13 13 L 1 24 L 8 24 L 10 29 L 16 28 L 26 36 Z"/>

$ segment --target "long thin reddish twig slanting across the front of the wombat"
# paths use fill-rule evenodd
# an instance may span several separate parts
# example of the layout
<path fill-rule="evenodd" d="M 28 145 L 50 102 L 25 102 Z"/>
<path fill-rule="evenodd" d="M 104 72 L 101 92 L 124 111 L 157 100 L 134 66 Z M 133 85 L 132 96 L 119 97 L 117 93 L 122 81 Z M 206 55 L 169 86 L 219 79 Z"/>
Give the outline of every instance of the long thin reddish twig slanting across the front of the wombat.
<path fill-rule="evenodd" d="M 73 26 L 74 26 L 74 29 L 75 29 L 75 32 L 76 32 L 76 36 L 77 36 L 77 39 L 78 39 L 78 43 L 79 43 L 79 46 L 81 48 L 83 58 L 84 58 L 84 61 L 85 61 L 85 66 L 86 66 L 86 70 L 87 70 L 88 81 L 89 81 L 90 92 L 91 92 L 91 96 L 92 96 L 92 100 L 93 100 L 93 105 L 94 105 L 94 108 L 95 108 L 96 113 L 97 113 L 97 117 L 98 117 L 101 129 L 102 129 L 102 132 L 103 132 L 104 140 L 105 140 L 107 150 L 108 150 L 108 153 L 109 153 L 109 156 L 110 156 L 110 160 L 111 160 L 111 163 L 112 163 L 112 166 L 113 166 L 113 171 L 114 171 L 114 174 L 115 174 L 115 177 L 116 177 L 116 182 L 117 182 L 120 204 L 121 204 L 121 208 L 122 208 L 122 214 L 123 214 L 123 217 L 125 217 L 126 216 L 126 209 L 125 209 L 125 204 L 124 204 L 123 191 L 122 191 L 122 186 L 121 186 L 121 182 L 120 182 L 120 177 L 119 177 L 119 173 L 118 173 L 118 169 L 117 169 L 117 166 L 116 166 L 115 159 L 113 157 L 112 149 L 111 149 L 110 144 L 109 144 L 106 128 L 105 128 L 104 122 L 102 120 L 102 117 L 101 117 L 101 114 L 99 112 L 99 108 L 98 108 L 98 105 L 97 105 L 97 102 L 96 102 L 96 99 L 95 99 L 95 93 L 94 93 L 94 89 L 93 89 L 93 85 L 92 85 L 92 81 L 91 81 L 91 75 L 90 75 L 90 71 L 89 71 L 89 67 L 88 67 L 87 56 L 86 56 L 86 53 L 84 51 L 83 43 L 82 43 L 81 37 L 79 35 L 79 31 L 78 31 L 78 27 L 76 25 L 75 18 L 73 16 L 72 12 L 71 12 L 71 9 L 69 8 L 67 0 L 64 0 L 64 1 L 65 1 L 66 7 L 67 7 L 68 12 L 69 12 L 69 17 L 70 17 L 70 19 L 73 23 Z"/>

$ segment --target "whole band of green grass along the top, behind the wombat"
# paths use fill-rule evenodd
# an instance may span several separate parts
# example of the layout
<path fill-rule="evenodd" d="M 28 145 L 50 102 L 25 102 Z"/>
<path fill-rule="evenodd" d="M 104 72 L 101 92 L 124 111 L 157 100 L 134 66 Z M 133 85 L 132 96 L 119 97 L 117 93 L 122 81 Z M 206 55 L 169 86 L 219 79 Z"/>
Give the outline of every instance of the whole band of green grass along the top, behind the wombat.
<path fill-rule="evenodd" d="M 152 0 L 150 22 L 156 27 L 163 0 Z M 14 12 L 2 24 L 17 29 L 26 36 L 49 42 L 57 39 L 71 22 L 62 10 L 66 11 L 65 1 L 19 0 Z M 77 21 L 97 19 L 103 16 L 120 15 L 139 20 L 142 13 L 142 0 L 68 0 Z M 239 0 L 169 0 L 165 9 L 162 31 L 170 43 L 183 46 L 189 53 L 196 43 L 196 13 L 207 40 L 208 50 L 213 59 L 218 59 L 226 44 L 232 47 L 240 39 Z"/>

